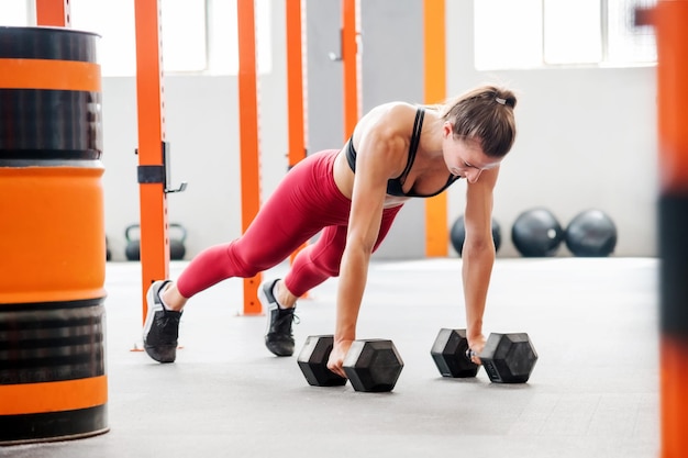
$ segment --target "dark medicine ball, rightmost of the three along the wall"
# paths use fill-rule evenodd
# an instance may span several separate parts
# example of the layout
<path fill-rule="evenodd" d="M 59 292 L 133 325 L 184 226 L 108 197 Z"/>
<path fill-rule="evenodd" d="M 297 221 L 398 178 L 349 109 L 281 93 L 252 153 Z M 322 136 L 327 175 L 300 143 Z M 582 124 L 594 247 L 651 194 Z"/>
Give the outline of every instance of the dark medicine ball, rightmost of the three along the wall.
<path fill-rule="evenodd" d="M 568 223 L 566 246 L 575 256 L 609 256 L 617 246 L 617 226 L 601 210 L 586 210 Z"/>

